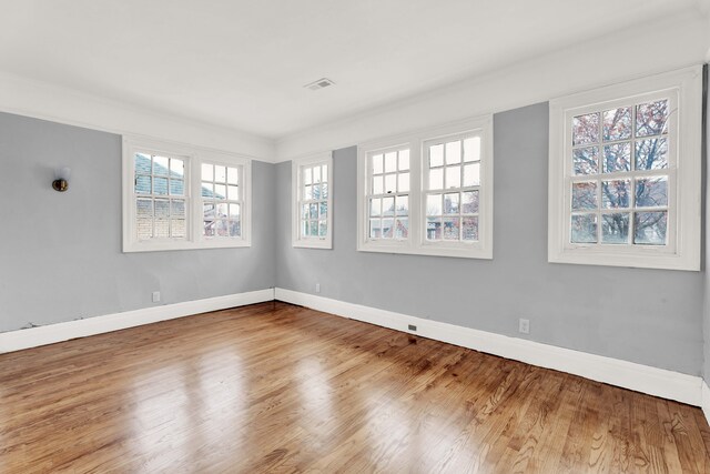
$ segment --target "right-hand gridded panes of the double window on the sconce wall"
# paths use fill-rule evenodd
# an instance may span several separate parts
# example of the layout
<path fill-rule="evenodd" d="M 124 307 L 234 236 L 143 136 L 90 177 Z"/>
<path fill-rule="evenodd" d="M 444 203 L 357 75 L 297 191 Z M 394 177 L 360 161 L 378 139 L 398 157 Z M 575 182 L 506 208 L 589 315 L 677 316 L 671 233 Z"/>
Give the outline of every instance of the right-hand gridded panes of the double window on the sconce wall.
<path fill-rule="evenodd" d="M 241 167 L 202 163 L 202 235 L 206 239 L 242 236 Z"/>

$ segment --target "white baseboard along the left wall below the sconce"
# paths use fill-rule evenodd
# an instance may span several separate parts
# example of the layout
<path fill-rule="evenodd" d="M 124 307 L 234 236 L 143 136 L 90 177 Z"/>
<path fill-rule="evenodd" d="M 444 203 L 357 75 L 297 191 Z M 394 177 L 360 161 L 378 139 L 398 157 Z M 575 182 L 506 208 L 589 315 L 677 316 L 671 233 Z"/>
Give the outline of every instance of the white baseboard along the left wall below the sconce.
<path fill-rule="evenodd" d="M 0 333 L 0 354 L 273 299 L 274 290 L 267 289 L 4 332 Z"/>

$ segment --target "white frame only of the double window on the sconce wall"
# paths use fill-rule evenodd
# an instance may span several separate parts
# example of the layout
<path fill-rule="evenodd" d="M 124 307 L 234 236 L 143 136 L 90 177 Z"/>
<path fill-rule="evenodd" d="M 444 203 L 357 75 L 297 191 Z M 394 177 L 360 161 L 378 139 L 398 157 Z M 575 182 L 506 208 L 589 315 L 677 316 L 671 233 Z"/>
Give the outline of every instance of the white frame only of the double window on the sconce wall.
<path fill-rule="evenodd" d="M 139 240 L 135 222 L 134 191 L 135 171 L 133 159 L 136 152 L 181 158 L 185 162 L 185 220 L 184 239 Z M 241 236 L 209 238 L 202 232 L 202 163 L 222 164 L 240 169 L 241 188 Z M 148 138 L 123 137 L 123 252 L 155 252 L 194 249 L 248 248 L 252 245 L 252 163 L 251 159 L 227 152 L 201 149 L 196 147 L 153 140 Z"/>

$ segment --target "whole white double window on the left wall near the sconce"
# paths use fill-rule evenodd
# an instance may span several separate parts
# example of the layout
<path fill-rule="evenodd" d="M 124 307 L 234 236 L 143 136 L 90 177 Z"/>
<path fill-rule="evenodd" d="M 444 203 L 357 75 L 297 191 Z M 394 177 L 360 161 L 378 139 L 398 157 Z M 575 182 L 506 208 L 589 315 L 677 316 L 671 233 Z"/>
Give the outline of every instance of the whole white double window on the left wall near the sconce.
<path fill-rule="evenodd" d="M 248 246 L 250 161 L 123 141 L 123 251 Z"/>

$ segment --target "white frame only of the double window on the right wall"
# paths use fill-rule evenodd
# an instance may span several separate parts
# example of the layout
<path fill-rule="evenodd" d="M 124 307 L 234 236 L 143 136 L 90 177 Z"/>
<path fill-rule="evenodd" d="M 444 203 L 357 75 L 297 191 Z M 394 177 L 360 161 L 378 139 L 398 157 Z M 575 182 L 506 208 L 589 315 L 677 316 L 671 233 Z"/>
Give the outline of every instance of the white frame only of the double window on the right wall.
<path fill-rule="evenodd" d="M 433 140 L 474 133 L 480 137 L 480 186 L 478 241 L 427 241 L 425 143 Z M 368 234 L 369 206 L 367 196 L 372 180 L 368 157 L 392 149 L 409 149 L 409 235 L 406 240 L 373 239 Z M 373 140 L 358 147 L 357 152 L 357 250 L 361 252 L 404 253 L 415 255 L 493 259 L 494 198 L 493 115 L 483 115 L 417 130 L 409 133 Z M 445 191 L 442 191 L 445 192 Z"/>

